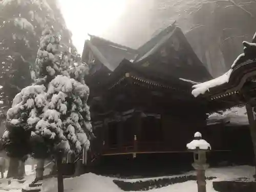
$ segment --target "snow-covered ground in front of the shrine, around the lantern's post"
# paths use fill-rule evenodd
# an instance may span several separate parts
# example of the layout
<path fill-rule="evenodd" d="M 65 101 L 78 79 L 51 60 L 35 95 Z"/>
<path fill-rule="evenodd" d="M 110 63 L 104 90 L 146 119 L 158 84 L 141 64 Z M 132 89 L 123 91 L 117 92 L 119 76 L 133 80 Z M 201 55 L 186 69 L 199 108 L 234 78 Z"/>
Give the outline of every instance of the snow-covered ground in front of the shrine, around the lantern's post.
<path fill-rule="evenodd" d="M 217 180 L 234 180 L 238 178 L 249 178 L 253 179 L 252 175 L 254 174 L 254 168 L 251 166 L 234 166 L 234 167 L 222 167 L 222 168 L 209 168 L 206 171 L 206 177 L 217 177 L 217 179 L 207 181 L 207 192 L 214 192 L 215 190 L 212 188 L 212 181 Z M 195 172 L 188 172 L 184 175 L 195 175 Z M 162 179 L 168 177 L 175 177 L 175 176 L 165 176 L 165 177 L 157 177 L 157 178 L 143 178 L 143 179 L 126 179 L 127 182 L 136 182 L 136 181 L 145 181 L 145 180 L 152 180 L 152 179 Z M 80 177 L 76 178 L 68 178 L 64 181 L 64 188 L 66 191 L 69 192 L 121 192 L 123 191 L 120 189 L 113 180 L 123 180 L 118 178 L 111 178 L 105 176 L 99 176 L 92 173 L 81 175 Z M 57 179 L 47 179 L 44 181 L 42 185 L 42 192 L 55 192 L 57 191 Z M 184 183 L 177 183 L 173 185 L 169 185 L 162 188 L 151 189 L 148 190 L 150 192 L 196 192 L 197 191 L 197 183 L 196 181 L 187 181 Z M 2 192 L 2 191 L 0 191 Z"/>

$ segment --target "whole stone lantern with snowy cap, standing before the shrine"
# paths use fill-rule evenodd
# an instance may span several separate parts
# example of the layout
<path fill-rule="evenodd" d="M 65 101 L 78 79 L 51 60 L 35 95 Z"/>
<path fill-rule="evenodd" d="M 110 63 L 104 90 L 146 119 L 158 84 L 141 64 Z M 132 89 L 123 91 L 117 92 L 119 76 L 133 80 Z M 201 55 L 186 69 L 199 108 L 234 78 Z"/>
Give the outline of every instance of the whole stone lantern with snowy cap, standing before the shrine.
<path fill-rule="evenodd" d="M 202 139 L 201 133 L 195 133 L 194 137 L 194 140 L 187 144 L 187 149 L 194 153 L 192 166 L 197 171 L 198 192 L 206 192 L 205 170 L 209 167 L 206 163 L 206 152 L 209 152 L 211 147 Z"/>

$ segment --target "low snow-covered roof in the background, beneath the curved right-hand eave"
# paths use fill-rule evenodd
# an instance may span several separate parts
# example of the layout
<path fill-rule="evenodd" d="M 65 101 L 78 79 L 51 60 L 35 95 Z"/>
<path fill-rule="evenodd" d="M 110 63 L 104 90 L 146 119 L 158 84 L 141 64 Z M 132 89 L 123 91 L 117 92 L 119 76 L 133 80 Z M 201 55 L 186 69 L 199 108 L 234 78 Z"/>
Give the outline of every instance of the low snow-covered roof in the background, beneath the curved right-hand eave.
<path fill-rule="evenodd" d="M 228 122 L 229 125 L 248 125 L 248 117 L 245 106 L 233 107 L 226 111 L 221 111 L 219 113 L 212 113 L 209 115 L 207 122 L 215 122 L 222 120 L 223 122 Z"/>

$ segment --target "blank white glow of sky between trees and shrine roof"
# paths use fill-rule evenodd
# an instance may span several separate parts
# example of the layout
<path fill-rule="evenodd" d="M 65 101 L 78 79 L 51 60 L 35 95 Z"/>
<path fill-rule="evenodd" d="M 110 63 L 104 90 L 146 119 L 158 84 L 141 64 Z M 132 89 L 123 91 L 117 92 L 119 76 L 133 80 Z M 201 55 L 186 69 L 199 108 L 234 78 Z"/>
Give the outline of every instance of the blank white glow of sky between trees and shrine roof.
<path fill-rule="evenodd" d="M 73 44 L 82 53 L 88 33 L 100 36 L 114 24 L 129 0 L 59 0 Z"/>

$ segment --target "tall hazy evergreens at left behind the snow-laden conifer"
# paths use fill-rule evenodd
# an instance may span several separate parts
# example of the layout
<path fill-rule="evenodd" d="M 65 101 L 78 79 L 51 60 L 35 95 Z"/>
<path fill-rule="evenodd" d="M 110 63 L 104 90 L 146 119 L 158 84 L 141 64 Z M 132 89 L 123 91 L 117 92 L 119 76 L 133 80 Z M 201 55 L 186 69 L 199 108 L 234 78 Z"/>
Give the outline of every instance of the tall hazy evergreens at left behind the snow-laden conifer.
<path fill-rule="evenodd" d="M 72 47 L 56 1 L 3 0 L 0 2 L 0 118 L 6 118 L 12 99 L 35 78 L 34 60 L 45 26 L 60 33 L 63 47 Z M 64 46 L 66 45 L 66 46 Z M 75 50 L 74 47 L 72 49 Z M 0 119 L 1 120 L 1 119 Z"/>

